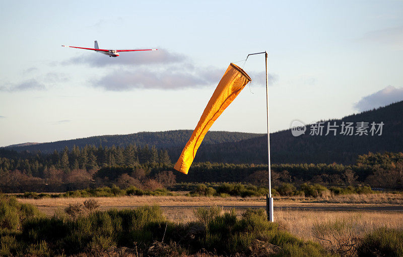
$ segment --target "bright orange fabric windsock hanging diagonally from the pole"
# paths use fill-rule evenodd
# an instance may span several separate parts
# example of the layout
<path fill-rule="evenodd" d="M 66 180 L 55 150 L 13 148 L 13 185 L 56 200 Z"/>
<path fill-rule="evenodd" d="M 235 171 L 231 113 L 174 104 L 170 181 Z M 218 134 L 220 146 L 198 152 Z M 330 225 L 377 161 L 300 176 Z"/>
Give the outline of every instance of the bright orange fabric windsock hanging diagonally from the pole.
<path fill-rule="evenodd" d="M 207 131 L 209 131 L 210 127 L 224 112 L 225 108 L 234 101 L 249 81 L 251 81 L 251 79 L 243 69 L 233 63 L 228 66 L 213 96 L 207 104 L 205 111 L 201 115 L 192 136 L 189 141 L 187 141 L 185 148 L 183 148 L 174 169 L 187 174 L 194 156 L 196 155 L 196 151 Z"/>

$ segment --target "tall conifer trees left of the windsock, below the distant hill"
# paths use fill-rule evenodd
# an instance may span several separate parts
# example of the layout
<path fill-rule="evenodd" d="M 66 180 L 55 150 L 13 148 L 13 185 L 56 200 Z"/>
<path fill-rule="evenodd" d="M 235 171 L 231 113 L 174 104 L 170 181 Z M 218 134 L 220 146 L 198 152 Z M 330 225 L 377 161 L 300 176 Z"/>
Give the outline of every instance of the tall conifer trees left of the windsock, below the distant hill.
<path fill-rule="evenodd" d="M 56 168 L 68 174 L 75 169 L 97 170 L 105 166 L 133 166 L 137 164 L 170 164 L 168 152 L 157 150 L 155 146 L 144 147 L 129 144 L 125 147 L 85 145 L 80 148 L 66 146 L 62 151 L 51 154 L 21 152 L 0 149 L 0 174 L 10 170 L 20 170 L 23 174 L 42 178 L 46 170 Z"/>

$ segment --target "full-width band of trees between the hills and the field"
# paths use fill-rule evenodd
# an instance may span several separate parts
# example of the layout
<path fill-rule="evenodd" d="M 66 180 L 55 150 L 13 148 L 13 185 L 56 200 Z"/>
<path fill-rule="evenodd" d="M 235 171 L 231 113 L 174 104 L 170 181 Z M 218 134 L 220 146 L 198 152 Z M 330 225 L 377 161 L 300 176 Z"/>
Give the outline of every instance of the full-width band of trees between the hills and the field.
<path fill-rule="evenodd" d="M 0 191 L 64 192 L 117 185 L 155 189 L 175 183 L 249 183 L 267 186 L 267 165 L 195 162 L 188 175 L 176 172 L 166 150 L 126 147 L 65 147 L 51 154 L 0 149 Z M 403 153 L 359 155 L 354 164 L 283 163 L 272 165 L 274 186 L 290 183 L 325 186 L 369 185 L 403 188 Z"/>

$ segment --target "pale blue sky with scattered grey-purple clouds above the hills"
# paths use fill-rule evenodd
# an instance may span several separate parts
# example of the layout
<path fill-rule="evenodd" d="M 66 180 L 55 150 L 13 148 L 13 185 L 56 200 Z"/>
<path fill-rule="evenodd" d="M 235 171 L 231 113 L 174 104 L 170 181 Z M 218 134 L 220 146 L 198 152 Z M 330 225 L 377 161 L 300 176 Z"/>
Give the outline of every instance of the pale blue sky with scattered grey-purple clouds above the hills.
<path fill-rule="evenodd" d="M 403 100 L 403 1 L 2 1 L 0 146 L 194 129 L 230 62 L 252 82 L 211 130 L 264 133 Z M 61 45 L 150 49 L 108 57 Z"/>

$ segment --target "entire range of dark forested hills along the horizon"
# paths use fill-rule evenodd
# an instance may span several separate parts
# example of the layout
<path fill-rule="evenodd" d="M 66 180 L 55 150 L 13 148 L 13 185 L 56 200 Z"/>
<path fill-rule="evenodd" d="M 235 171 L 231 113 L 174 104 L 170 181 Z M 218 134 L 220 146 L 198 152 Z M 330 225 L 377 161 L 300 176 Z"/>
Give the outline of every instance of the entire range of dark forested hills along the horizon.
<path fill-rule="evenodd" d="M 327 133 L 328 122 L 335 122 L 336 135 Z M 344 135 L 342 123 L 352 122 L 353 135 Z M 368 135 L 356 135 L 359 123 L 365 122 Z M 382 134 L 371 135 L 371 123 L 383 122 Z M 368 152 L 403 151 L 403 101 L 376 110 L 346 116 L 342 119 L 323 121 L 322 135 L 310 135 L 312 124 L 306 126 L 303 135 L 294 137 L 291 130 L 271 134 L 271 160 L 273 163 L 354 163 L 357 156 Z M 375 131 L 374 131 L 375 132 Z M 140 132 L 128 135 L 106 135 L 64 140 L 51 143 L 9 146 L 6 149 L 18 152 L 40 150 L 52 153 L 61 152 L 65 146 L 73 149 L 85 145 L 103 147 L 112 145 L 125 147 L 135 143 L 144 147 L 156 146 L 167 149 L 172 162 L 175 162 L 189 139 L 191 130 L 173 130 L 164 132 Z M 267 139 L 264 134 L 210 131 L 197 151 L 195 161 L 227 163 L 267 163 Z"/>

